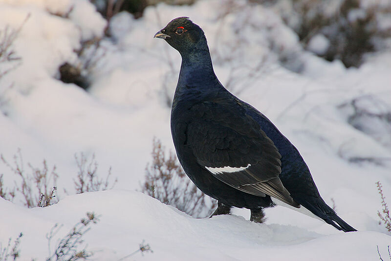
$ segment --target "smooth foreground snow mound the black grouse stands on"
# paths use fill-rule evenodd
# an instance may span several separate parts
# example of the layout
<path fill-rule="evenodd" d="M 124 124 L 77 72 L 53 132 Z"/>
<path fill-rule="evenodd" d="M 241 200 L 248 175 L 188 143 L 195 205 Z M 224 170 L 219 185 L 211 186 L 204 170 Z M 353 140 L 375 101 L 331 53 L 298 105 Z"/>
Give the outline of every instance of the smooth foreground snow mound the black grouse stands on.
<path fill-rule="evenodd" d="M 239 216 L 195 219 L 150 196 L 119 190 L 67 196 L 56 205 L 34 209 L 24 209 L 0 198 L 0 208 L 8 213 L 1 216 L 0 241 L 7 241 L 5 235 L 22 231 L 22 260 L 43 260 L 47 255 L 45 233 L 59 223 L 64 226 L 56 237 L 64 237 L 87 211 L 100 215 L 100 221 L 84 237 L 88 250 L 95 252 L 96 261 L 127 256 L 142 240 L 153 250 L 143 260 L 289 257 L 299 261 L 313 260 L 317 253 L 319 261 L 367 261 L 378 257 L 376 245 L 384 253 L 391 240 L 390 236 L 365 231 L 327 236 L 296 226 L 257 224 Z M 14 222 L 20 226 L 6 225 Z"/>

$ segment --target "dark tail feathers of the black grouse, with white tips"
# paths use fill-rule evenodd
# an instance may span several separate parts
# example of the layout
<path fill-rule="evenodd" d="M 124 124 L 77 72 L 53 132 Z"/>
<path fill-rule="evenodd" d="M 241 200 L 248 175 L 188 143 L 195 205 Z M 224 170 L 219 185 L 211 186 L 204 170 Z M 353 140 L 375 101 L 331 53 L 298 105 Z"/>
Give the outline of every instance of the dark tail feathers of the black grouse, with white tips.
<path fill-rule="evenodd" d="M 344 232 L 357 231 L 342 218 L 338 217 L 335 211 L 330 208 L 321 197 L 316 199 L 316 203 L 304 201 L 301 202 L 301 204 L 314 215 L 322 218 L 327 224 L 334 226 L 338 230 L 342 230 Z"/>

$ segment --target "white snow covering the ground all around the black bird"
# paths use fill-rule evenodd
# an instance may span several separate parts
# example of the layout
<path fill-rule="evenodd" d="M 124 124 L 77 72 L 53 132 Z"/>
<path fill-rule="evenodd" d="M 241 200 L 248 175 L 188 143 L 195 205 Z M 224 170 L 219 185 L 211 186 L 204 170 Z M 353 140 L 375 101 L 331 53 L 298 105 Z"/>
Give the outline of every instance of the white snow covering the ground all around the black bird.
<path fill-rule="evenodd" d="M 59 81 L 58 66 L 81 63 L 74 50 L 102 37 L 105 20 L 87 0 L 0 0 L 0 30 L 19 28 L 28 14 L 13 44 L 20 64 L 0 78 L 0 153 L 12 162 L 20 148 L 25 164 L 46 159 L 56 165 L 60 202 L 26 209 L 20 198 L 0 198 L 0 242 L 23 232 L 20 260 L 43 260 L 51 227 L 64 224 L 61 238 L 87 211 L 101 215 L 85 236 L 93 260 L 118 260 L 143 239 L 154 252 L 137 260 L 367 261 L 378 259 L 376 245 L 387 257 L 391 237 L 379 224 L 375 182 L 391 198 L 391 125 L 374 115 L 391 111 L 391 50 L 346 69 L 305 52 L 297 35 L 260 5 L 159 4 L 139 20 L 126 13 L 112 19 L 112 37 L 101 41 L 99 59 L 88 68 L 86 92 Z M 173 148 L 167 104 L 180 56 L 152 37 L 179 16 L 204 29 L 223 85 L 296 145 L 323 198 L 330 205 L 334 200 L 338 214 L 359 232 L 342 233 L 283 207 L 266 210 L 265 224 L 248 221 L 243 210 L 195 219 L 135 192 L 151 161 L 152 138 Z M 370 113 L 355 115 L 357 109 Z M 79 152 L 95 154 L 102 177 L 112 167 L 115 190 L 65 196 L 64 188 L 72 193 Z M 2 163 L 0 174 L 13 186 L 15 175 Z"/>

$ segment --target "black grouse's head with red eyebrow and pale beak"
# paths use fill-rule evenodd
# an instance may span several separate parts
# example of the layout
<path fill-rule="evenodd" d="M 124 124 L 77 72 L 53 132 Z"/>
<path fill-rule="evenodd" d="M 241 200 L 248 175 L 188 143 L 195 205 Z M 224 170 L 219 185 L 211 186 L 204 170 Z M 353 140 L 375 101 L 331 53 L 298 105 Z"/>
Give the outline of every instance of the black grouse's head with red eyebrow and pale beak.
<path fill-rule="evenodd" d="M 204 40 L 205 35 L 202 29 L 188 17 L 178 17 L 158 31 L 154 35 L 154 38 L 166 40 L 166 42 L 178 50 L 180 54 L 184 54 L 202 47 L 204 41 L 200 40 Z"/>

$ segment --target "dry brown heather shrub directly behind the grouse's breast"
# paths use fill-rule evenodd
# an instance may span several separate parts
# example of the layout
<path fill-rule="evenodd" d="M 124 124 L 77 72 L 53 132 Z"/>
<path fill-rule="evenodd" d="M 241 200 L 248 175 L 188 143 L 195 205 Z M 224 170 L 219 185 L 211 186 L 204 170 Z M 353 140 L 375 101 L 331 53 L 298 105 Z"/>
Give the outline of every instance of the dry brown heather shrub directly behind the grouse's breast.
<path fill-rule="evenodd" d="M 141 191 L 174 206 L 195 218 L 206 217 L 216 208 L 216 200 L 206 196 L 191 182 L 173 152 L 168 157 L 160 140 L 154 138 L 152 163 L 145 169 Z"/>

